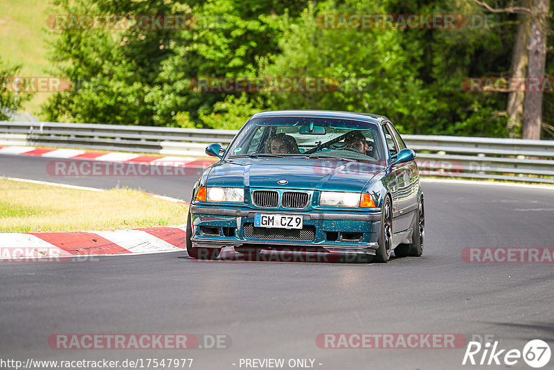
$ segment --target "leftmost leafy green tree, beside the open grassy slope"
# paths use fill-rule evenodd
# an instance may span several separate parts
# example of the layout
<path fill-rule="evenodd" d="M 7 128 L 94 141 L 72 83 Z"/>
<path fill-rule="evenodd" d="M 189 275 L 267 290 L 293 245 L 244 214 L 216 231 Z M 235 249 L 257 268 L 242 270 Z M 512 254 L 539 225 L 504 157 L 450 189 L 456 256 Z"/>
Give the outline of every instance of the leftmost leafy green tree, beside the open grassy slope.
<path fill-rule="evenodd" d="M 56 0 L 57 14 L 172 14 L 164 2 Z M 55 73 L 73 89 L 55 94 L 44 107 L 48 120 L 156 125 L 146 96 L 171 55 L 176 30 L 62 29 L 51 45 Z"/>

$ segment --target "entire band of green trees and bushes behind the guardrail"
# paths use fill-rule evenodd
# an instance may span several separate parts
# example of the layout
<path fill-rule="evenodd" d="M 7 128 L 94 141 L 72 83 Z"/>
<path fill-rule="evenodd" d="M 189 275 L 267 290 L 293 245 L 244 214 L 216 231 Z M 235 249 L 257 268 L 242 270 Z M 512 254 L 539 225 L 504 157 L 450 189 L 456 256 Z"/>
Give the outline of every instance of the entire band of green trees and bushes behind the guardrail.
<path fill-rule="evenodd" d="M 497 6 L 509 3 L 499 0 Z M 467 77 L 509 75 L 517 16 L 485 14 L 474 1 L 56 4 L 56 14 L 192 14 L 195 21 L 187 30 L 60 31 L 51 60 L 56 74 L 79 88 L 51 98 L 44 107 L 50 120 L 238 128 L 260 110 L 334 109 L 384 114 L 402 133 L 508 134 L 508 95 L 468 93 L 462 84 Z M 403 30 L 329 29 L 318 21 L 340 13 L 488 15 L 491 23 Z M 197 78 L 265 77 L 321 78 L 329 91 L 224 93 L 195 86 Z M 545 98 L 546 116 L 554 117 L 553 102 Z"/>

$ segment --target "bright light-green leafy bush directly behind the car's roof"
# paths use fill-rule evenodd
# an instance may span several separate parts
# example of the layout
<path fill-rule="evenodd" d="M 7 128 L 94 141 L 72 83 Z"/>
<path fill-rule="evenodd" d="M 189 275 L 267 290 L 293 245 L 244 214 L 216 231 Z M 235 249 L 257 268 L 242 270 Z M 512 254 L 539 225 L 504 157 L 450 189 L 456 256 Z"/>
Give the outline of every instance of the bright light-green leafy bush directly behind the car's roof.
<path fill-rule="evenodd" d="M 426 107 L 434 102 L 425 98 L 427 91 L 414 73 L 420 63 L 411 62 L 402 49 L 402 31 L 323 29 L 316 24 L 318 13 L 340 12 L 382 14 L 384 8 L 352 2 L 346 9 L 337 9 L 328 2 L 321 3 L 319 10 L 310 6 L 298 21 L 283 19 L 282 52 L 265 60 L 262 73 L 334 78 L 338 90 L 271 94 L 269 105 L 375 112 L 395 121 L 429 119 Z M 416 50 L 413 53 L 415 58 L 420 55 Z"/>

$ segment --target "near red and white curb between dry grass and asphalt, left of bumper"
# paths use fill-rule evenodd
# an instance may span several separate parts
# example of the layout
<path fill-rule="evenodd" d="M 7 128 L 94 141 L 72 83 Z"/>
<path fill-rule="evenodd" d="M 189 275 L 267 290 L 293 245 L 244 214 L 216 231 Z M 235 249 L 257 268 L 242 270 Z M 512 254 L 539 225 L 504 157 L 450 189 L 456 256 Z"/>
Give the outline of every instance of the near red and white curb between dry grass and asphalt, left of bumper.
<path fill-rule="evenodd" d="M 177 252 L 186 248 L 186 225 L 71 233 L 0 234 L 0 260 L 19 261 Z"/>

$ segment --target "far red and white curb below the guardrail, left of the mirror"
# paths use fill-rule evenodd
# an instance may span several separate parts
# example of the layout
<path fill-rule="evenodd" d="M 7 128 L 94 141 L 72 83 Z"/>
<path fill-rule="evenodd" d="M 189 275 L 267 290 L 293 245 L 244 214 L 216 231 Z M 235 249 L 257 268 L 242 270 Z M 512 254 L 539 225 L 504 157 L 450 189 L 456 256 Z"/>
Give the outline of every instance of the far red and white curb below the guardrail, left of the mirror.
<path fill-rule="evenodd" d="M 160 155 L 139 155 L 123 152 L 90 152 L 75 149 L 35 148 L 33 146 L 0 146 L 0 155 L 30 155 L 46 158 L 86 159 L 89 161 L 118 162 L 129 164 L 150 164 L 170 167 L 208 167 L 214 159 L 193 157 L 163 157 Z"/>

